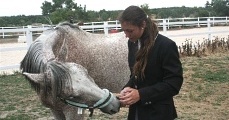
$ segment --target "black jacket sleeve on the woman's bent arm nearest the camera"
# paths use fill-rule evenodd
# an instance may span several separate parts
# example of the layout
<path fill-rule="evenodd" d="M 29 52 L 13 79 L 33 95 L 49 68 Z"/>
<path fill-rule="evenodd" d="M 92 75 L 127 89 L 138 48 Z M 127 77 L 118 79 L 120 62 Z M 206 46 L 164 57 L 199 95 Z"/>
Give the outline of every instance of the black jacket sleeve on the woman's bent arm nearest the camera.
<path fill-rule="evenodd" d="M 162 51 L 163 80 L 152 86 L 139 89 L 141 103 L 155 103 L 172 98 L 179 93 L 183 83 L 182 64 L 175 42 L 169 42 Z"/>

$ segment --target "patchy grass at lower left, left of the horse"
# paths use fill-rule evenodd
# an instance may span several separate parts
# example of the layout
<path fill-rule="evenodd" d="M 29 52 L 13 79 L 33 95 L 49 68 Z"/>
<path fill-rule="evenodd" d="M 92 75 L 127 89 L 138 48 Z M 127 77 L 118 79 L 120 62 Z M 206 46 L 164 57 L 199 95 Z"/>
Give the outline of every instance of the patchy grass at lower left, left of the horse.
<path fill-rule="evenodd" d="M 19 73 L 0 76 L 0 120 L 31 120 L 50 116 Z"/>

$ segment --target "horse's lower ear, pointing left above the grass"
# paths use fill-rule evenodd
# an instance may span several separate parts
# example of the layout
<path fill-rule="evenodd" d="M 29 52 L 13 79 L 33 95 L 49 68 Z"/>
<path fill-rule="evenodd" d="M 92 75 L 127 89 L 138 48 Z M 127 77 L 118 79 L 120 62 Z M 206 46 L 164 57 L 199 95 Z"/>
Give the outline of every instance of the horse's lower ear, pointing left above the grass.
<path fill-rule="evenodd" d="M 33 73 L 27 73 L 23 72 L 23 75 L 28 77 L 31 81 L 38 83 L 38 84 L 43 84 L 43 79 L 44 79 L 44 74 L 33 74 Z"/>

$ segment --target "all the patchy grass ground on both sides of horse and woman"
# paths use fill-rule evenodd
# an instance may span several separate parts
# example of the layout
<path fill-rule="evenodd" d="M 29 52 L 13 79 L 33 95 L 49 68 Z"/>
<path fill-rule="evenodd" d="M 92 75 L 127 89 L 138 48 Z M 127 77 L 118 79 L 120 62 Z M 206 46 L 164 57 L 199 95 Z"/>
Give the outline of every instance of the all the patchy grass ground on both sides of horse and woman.
<path fill-rule="evenodd" d="M 178 120 L 229 119 L 229 54 L 181 58 L 184 84 L 174 97 Z M 53 119 L 20 73 L 0 76 L 0 120 Z M 125 120 L 127 108 L 115 115 L 95 110 L 90 120 Z"/>

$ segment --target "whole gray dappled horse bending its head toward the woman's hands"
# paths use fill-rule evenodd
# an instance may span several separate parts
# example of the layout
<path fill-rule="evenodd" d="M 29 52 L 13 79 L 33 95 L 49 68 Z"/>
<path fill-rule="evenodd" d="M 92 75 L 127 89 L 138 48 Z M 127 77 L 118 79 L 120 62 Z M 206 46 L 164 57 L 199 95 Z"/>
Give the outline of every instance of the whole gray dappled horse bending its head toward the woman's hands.
<path fill-rule="evenodd" d="M 123 33 L 92 34 L 60 23 L 31 44 L 21 69 L 55 119 L 83 119 L 76 107 L 113 114 L 119 101 L 108 90 L 120 92 L 129 78 L 127 50 Z"/>

